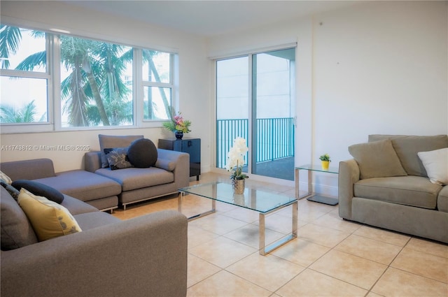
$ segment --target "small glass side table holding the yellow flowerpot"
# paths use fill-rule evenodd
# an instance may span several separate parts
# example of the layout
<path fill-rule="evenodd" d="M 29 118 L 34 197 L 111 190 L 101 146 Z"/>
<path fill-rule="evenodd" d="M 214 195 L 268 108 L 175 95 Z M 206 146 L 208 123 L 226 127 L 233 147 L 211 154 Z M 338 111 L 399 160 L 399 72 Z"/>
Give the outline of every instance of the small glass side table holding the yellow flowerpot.
<path fill-rule="evenodd" d="M 299 171 L 306 170 L 308 171 L 308 193 L 305 196 L 299 197 Z M 328 169 L 322 169 L 321 165 L 302 165 L 295 168 L 295 197 L 299 198 L 307 198 L 308 201 L 314 201 L 318 203 L 328 204 L 328 205 L 337 205 L 339 203 L 338 198 L 332 198 L 327 196 L 321 196 L 313 193 L 313 171 L 323 172 L 323 173 L 333 173 L 339 174 L 339 168 L 330 166 Z"/>

